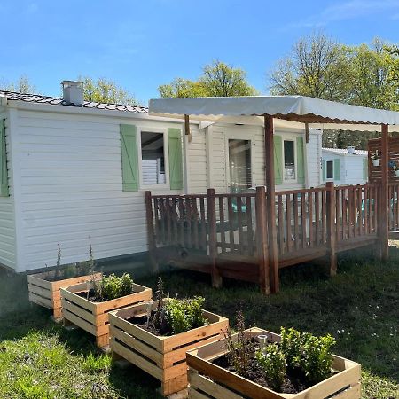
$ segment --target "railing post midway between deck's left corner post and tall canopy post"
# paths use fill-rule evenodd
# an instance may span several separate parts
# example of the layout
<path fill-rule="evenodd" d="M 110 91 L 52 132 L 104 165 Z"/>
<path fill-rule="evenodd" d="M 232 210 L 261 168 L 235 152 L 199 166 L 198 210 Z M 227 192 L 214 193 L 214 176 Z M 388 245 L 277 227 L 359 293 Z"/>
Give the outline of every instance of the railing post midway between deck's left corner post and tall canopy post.
<path fill-rule="evenodd" d="M 216 266 L 217 246 L 216 246 L 216 201 L 215 189 L 207 189 L 207 224 L 209 230 L 209 257 L 211 260 L 212 286 L 219 288 L 223 284 L 222 277 Z"/>

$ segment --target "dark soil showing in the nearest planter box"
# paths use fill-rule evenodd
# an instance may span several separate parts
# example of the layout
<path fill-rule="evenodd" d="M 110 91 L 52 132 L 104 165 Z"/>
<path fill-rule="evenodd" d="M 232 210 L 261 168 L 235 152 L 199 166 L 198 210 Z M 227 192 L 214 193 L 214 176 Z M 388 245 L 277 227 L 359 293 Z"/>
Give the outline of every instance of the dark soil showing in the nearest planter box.
<path fill-rule="evenodd" d="M 258 364 L 254 356 L 257 348 L 259 348 L 259 342 L 256 340 L 251 340 L 248 344 L 248 351 L 250 356 L 250 361 L 248 364 L 248 375 L 242 377 L 245 377 L 246 379 L 249 379 L 256 384 L 259 384 L 262 387 L 270 388 L 267 380 L 265 379 L 264 372 L 262 371 L 261 366 Z M 236 372 L 234 368 L 231 367 L 231 365 L 229 364 L 227 356 L 218 357 L 212 363 L 222 367 L 225 370 L 228 370 L 229 372 Z M 312 384 L 309 384 L 309 381 L 306 380 L 306 377 L 303 372 L 301 372 L 301 370 L 287 369 L 287 378 L 284 381 L 283 386 L 281 387 L 280 393 L 297 394 L 311 386 Z"/>

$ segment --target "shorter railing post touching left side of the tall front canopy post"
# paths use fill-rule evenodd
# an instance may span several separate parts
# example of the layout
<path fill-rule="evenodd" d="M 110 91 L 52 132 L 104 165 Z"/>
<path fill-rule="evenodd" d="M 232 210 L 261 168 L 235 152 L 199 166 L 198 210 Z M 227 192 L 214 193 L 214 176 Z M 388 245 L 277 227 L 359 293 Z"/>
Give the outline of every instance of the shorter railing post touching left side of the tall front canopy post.
<path fill-rule="evenodd" d="M 259 286 L 262 293 L 270 294 L 270 267 L 268 251 L 268 226 L 266 215 L 266 192 L 263 186 L 256 187 L 256 248 L 259 262 Z"/>

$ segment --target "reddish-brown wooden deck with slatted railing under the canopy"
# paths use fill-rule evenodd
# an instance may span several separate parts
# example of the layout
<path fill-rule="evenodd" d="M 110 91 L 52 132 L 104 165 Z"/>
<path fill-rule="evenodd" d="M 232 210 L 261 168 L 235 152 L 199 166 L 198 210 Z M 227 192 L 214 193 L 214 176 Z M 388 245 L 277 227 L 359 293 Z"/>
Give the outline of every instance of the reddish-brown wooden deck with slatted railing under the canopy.
<path fill-rule="evenodd" d="M 395 211 L 397 218 L 398 187 L 391 192 L 392 215 Z M 268 201 L 264 187 L 234 194 L 215 194 L 212 189 L 181 196 L 145 192 L 154 265 L 171 262 L 209 273 L 214 286 L 221 286 L 223 278 L 257 282 L 270 293 L 272 247 L 277 248 L 278 269 L 325 258 L 333 275 L 337 253 L 379 245 L 377 184 L 328 183 L 274 196 Z M 274 212 L 268 211 L 268 203 L 274 203 Z"/>

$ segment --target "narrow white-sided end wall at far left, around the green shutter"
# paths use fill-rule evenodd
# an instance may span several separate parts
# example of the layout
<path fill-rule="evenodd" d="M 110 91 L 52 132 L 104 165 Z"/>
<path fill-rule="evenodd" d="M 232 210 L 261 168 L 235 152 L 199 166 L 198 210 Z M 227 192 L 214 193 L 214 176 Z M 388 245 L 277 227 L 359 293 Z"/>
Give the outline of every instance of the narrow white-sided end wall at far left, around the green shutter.
<path fill-rule="evenodd" d="M 5 119 L 5 145 L 7 151 L 8 182 L 10 197 L 0 197 L 0 263 L 15 269 L 15 212 L 12 185 L 12 151 L 10 141 L 10 118 L 8 113 L 0 113 Z"/>

